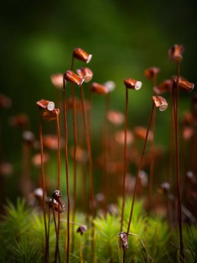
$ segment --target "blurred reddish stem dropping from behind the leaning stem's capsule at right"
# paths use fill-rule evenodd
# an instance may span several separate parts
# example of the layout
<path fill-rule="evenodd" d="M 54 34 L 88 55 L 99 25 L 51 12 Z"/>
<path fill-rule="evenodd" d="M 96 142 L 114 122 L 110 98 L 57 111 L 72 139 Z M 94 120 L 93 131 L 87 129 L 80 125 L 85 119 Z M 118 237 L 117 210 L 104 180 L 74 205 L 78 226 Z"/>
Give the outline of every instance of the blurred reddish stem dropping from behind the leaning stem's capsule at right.
<path fill-rule="evenodd" d="M 153 150 L 153 146 L 154 146 L 155 126 L 156 126 L 156 111 L 153 112 L 153 118 L 152 118 L 153 138 L 151 139 L 151 150 Z M 151 209 L 152 194 L 153 194 L 154 164 L 155 164 L 155 155 L 152 152 L 151 153 L 151 165 L 150 165 L 150 179 L 149 179 L 149 210 Z"/>

